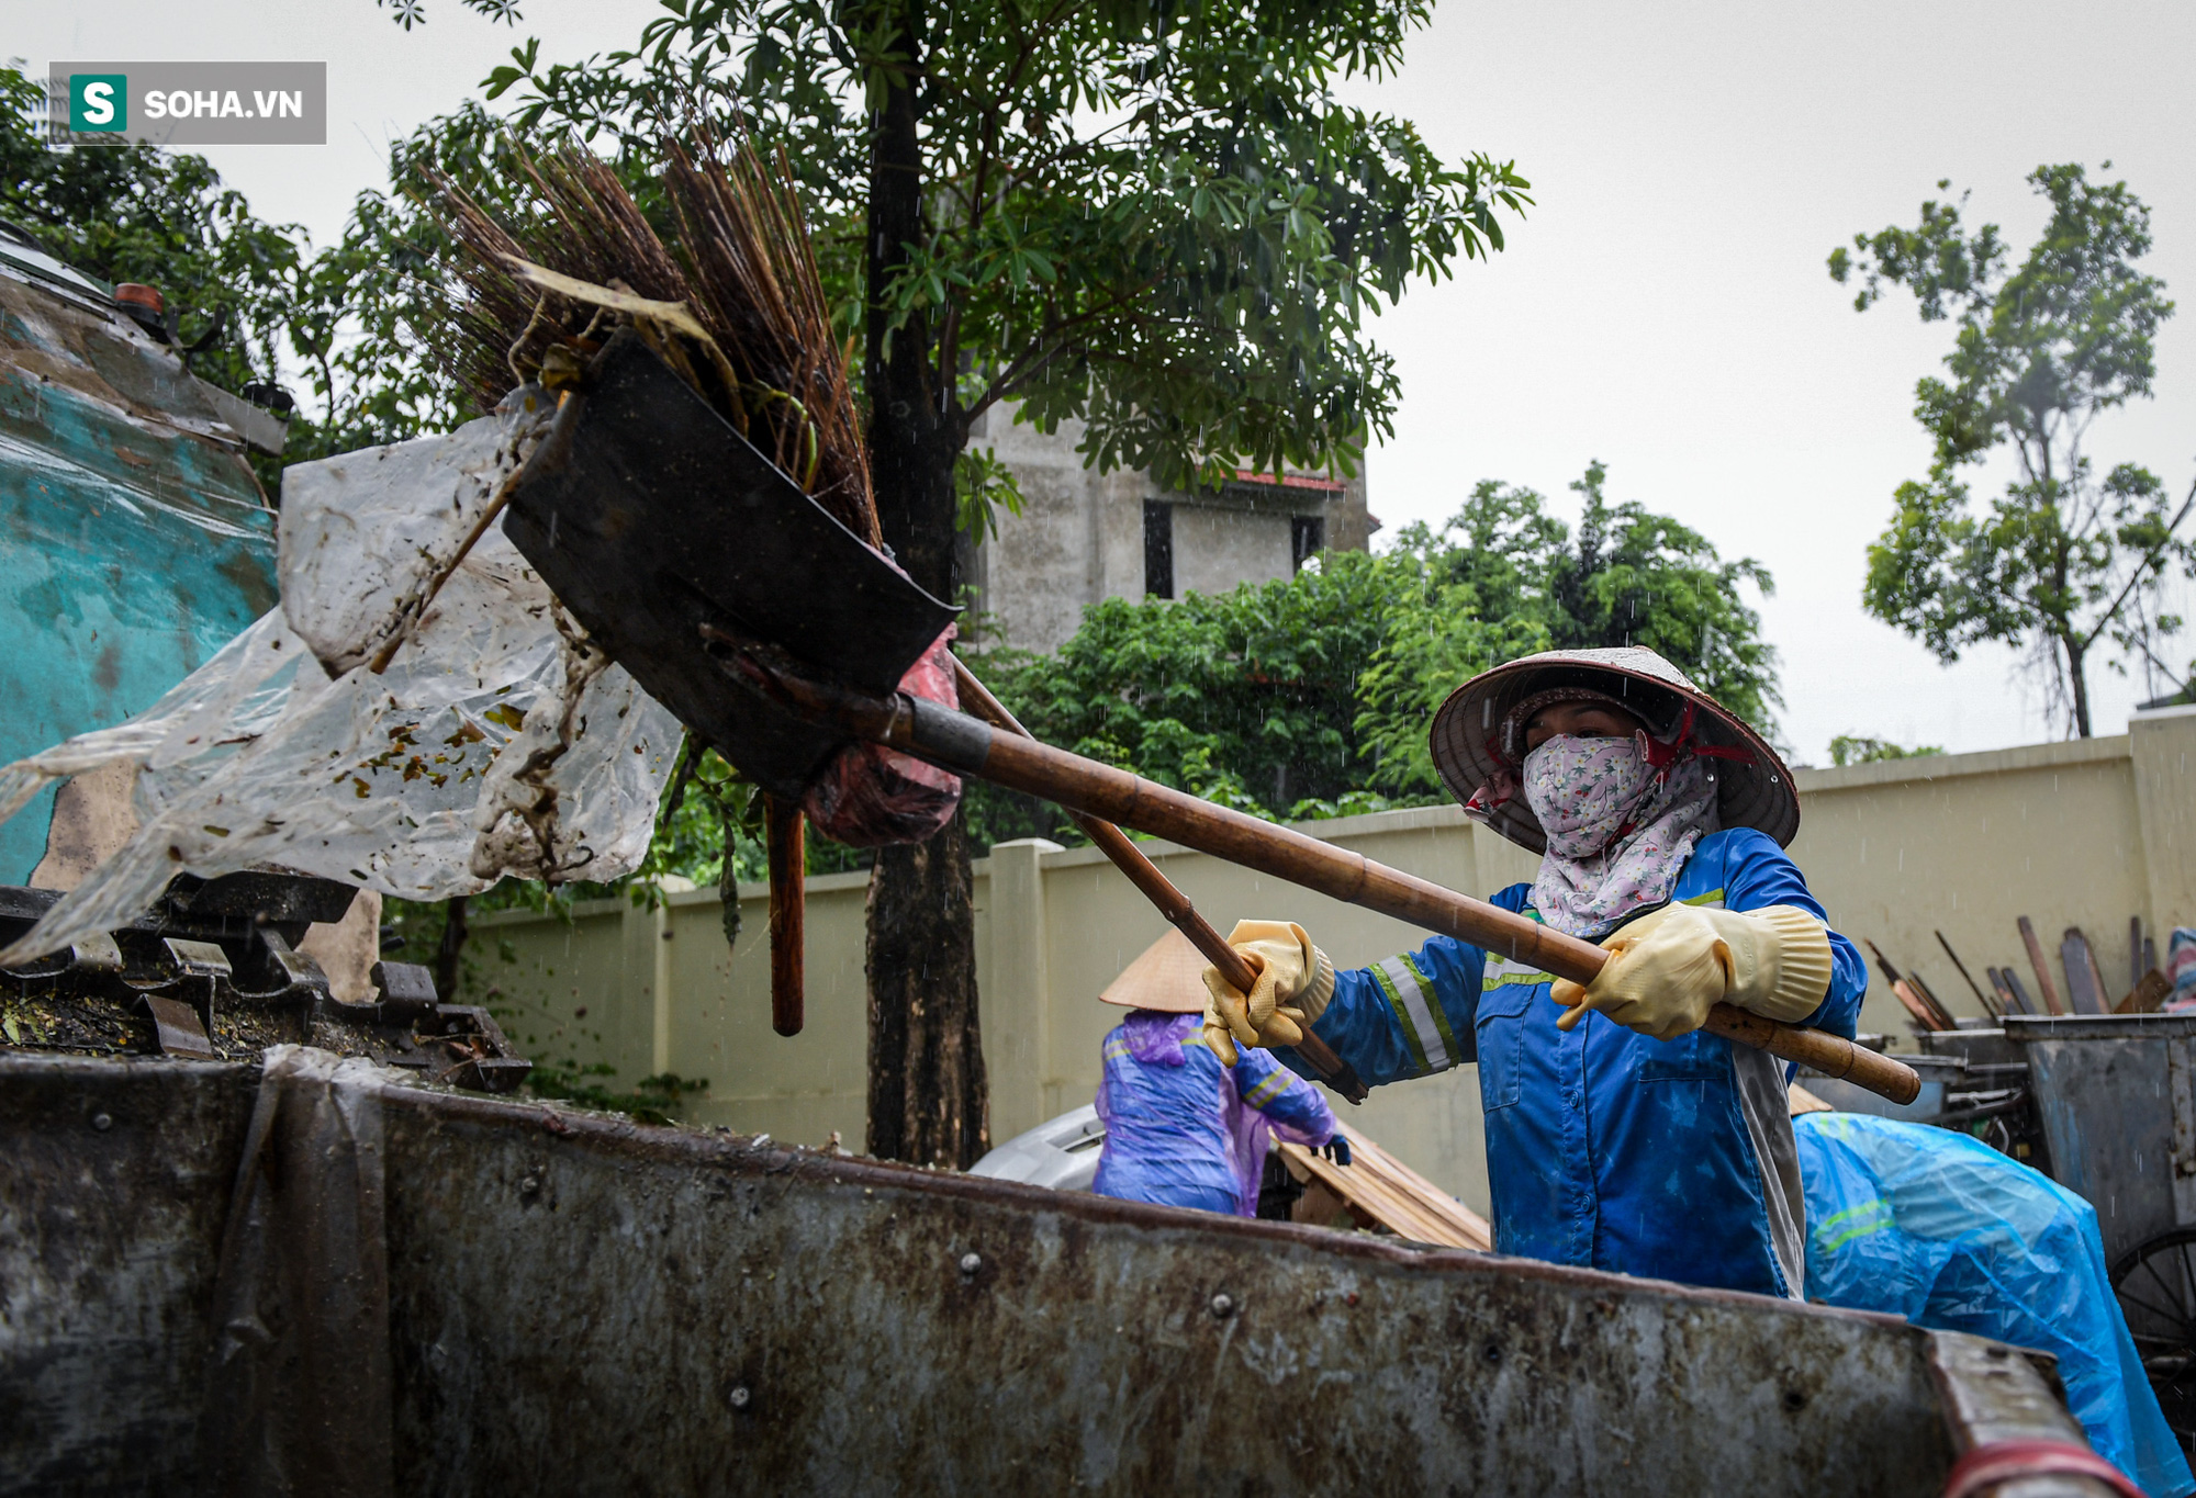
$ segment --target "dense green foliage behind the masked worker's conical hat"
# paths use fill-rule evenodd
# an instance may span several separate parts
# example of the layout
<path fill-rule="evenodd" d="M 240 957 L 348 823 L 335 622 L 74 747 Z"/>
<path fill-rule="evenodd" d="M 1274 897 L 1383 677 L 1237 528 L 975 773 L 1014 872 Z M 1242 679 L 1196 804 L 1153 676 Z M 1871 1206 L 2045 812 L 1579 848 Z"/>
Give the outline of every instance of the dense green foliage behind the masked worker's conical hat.
<path fill-rule="evenodd" d="M 1441 527 L 1379 556 L 1329 551 L 1296 578 L 1107 600 L 1052 657 L 993 652 L 986 683 L 1039 738 L 1265 817 L 1447 800 L 1427 725 L 1467 677 L 1550 648 L 1647 646 L 1763 731 L 1777 652 L 1741 584 L 1693 529 L 1612 505 L 1594 463 L 1572 532 L 1526 488 L 1482 481 Z M 973 793 L 979 837 L 1072 841 L 1054 808 Z"/>

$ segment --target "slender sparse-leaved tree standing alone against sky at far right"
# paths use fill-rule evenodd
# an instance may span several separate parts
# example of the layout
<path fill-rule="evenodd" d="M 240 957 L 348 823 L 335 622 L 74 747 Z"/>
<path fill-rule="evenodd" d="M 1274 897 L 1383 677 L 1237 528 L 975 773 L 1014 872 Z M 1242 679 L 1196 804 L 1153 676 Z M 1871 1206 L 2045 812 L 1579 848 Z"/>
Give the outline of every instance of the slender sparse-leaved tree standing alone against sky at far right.
<path fill-rule="evenodd" d="M 1935 461 L 1928 479 L 1900 485 L 1862 602 L 1941 661 L 1981 641 L 2029 646 L 2086 738 L 2091 652 L 2117 646 L 2115 670 L 2130 655 L 2156 661 L 2159 637 L 2181 626 L 2161 613 L 2161 582 L 2174 567 L 2196 575 L 2196 545 L 2176 534 L 2189 505 L 2174 510 L 2137 463 L 2099 477 L 2084 450 L 2102 413 L 2150 398 L 2174 303 L 2135 266 L 2150 253 L 2150 209 L 2126 182 L 2062 165 L 2029 185 L 2051 220 L 2018 268 L 1996 224 L 1963 228 L 1965 195 L 1924 202 L 1917 226 L 1856 235 L 1829 257 L 1831 279 L 1858 277 L 1856 310 L 1904 286 L 1922 321 L 1957 329 L 1946 378 L 1915 387 Z M 1961 468 L 1996 452 L 2012 455 L 2014 479 L 1976 505 Z"/>

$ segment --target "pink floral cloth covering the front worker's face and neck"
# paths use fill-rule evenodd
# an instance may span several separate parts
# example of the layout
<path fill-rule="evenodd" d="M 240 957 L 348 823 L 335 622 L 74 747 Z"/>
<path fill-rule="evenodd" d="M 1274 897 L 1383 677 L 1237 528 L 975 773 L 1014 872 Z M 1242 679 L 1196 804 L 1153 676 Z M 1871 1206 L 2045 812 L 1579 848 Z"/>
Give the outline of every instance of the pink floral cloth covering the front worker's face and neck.
<path fill-rule="evenodd" d="M 1607 936 L 1634 909 L 1667 901 L 1717 826 L 1708 760 L 1682 753 L 1656 769 L 1647 734 L 1557 734 L 1524 758 L 1520 780 L 1548 835 L 1533 909 L 1568 936 Z"/>

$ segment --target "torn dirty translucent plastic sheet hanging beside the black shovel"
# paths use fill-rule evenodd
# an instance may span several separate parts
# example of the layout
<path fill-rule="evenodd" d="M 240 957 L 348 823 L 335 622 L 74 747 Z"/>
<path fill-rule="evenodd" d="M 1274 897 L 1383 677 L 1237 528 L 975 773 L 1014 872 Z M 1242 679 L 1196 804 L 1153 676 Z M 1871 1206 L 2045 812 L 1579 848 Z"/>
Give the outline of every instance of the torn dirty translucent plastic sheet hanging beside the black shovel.
<path fill-rule="evenodd" d="M 580 637 L 501 529 L 384 674 L 358 663 L 417 608 L 542 415 L 540 391 L 516 391 L 448 437 L 290 470 L 283 606 L 145 714 L 0 769 L 4 819 L 53 780 L 132 764 L 141 819 L 0 964 L 134 920 L 184 872 L 279 865 L 441 901 L 639 865 L 679 720 Z"/>

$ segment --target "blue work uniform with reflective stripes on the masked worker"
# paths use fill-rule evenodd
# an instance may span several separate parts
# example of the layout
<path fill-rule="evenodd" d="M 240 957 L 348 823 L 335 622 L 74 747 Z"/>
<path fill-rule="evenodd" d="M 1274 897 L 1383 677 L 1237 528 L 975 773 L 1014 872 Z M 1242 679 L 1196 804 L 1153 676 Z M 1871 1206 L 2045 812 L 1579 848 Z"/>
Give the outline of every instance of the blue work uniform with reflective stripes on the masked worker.
<path fill-rule="evenodd" d="M 1537 920 L 1531 892 L 1493 903 Z M 1799 865 L 1752 828 L 1700 839 L 1671 898 L 1794 905 L 1829 925 Z M 1829 944 L 1829 993 L 1801 1024 L 1851 1037 L 1869 977 L 1849 940 L 1831 931 Z M 1566 1035 L 1553 982 L 1436 936 L 1337 973 L 1313 1030 L 1375 1087 L 1478 1061 L 1495 1252 L 1799 1296 L 1807 1215 L 1783 1063 L 1706 1030 L 1656 1041 L 1599 1013 Z"/>

